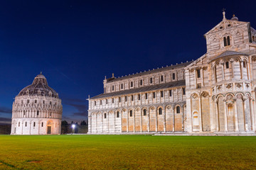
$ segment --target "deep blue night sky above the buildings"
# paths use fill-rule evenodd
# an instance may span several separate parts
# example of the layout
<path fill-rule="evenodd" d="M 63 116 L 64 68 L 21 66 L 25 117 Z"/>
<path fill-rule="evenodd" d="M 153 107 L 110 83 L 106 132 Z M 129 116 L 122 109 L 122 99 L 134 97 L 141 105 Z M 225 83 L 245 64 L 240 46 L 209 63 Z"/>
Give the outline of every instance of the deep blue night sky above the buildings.
<path fill-rule="evenodd" d="M 195 60 L 203 34 L 233 13 L 256 27 L 255 1 L 1 1 L 0 123 L 41 71 L 63 120 L 85 120 L 105 77 Z"/>

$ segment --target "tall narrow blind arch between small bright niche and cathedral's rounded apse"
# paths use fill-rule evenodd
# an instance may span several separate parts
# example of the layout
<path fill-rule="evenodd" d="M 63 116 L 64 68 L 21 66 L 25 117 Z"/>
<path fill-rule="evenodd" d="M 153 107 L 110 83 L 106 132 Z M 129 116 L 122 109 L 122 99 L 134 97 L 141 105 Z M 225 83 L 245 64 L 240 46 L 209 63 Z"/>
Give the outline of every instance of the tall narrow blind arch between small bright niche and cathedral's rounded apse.
<path fill-rule="evenodd" d="M 210 131 L 210 100 L 209 98 L 210 96 L 207 91 L 203 91 L 201 93 L 201 122 L 202 122 L 203 131 Z"/>

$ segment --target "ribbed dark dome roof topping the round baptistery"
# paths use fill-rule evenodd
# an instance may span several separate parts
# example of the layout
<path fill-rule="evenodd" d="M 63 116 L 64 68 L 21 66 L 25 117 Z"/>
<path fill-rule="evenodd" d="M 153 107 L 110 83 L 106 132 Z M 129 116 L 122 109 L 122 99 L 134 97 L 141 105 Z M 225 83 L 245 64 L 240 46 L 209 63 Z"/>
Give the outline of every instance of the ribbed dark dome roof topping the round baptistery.
<path fill-rule="evenodd" d="M 43 74 L 38 74 L 33 83 L 22 89 L 18 96 L 49 96 L 59 98 L 58 93 L 48 86 L 46 77 Z"/>

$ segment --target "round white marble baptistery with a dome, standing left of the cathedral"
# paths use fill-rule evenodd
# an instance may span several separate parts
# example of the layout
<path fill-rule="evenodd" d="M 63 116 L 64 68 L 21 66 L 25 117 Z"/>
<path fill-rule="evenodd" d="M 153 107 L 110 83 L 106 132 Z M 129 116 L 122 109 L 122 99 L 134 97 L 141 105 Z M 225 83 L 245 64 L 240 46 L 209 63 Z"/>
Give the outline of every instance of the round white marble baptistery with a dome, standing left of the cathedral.
<path fill-rule="evenodd" d="M 11 135 L 58 135 L 62 112 L 58 93 L 48 86 L 42 73 L 38 74 L 15 98 Z"/>

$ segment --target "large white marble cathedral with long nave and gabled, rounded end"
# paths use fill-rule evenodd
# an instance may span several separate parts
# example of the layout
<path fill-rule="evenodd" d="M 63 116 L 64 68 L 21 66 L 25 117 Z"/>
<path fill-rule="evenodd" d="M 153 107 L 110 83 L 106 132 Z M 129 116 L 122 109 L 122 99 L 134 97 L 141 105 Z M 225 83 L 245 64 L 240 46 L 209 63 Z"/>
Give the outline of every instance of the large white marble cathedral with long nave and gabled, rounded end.
<path fill-rule="evenodd" d="M 88 133 L 255 133 L 256 30 L 223 12 L 204 37 L 197 60 L 105 78 L 88 99 Z"/>

